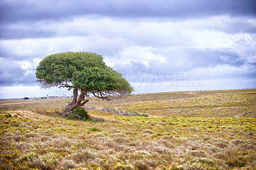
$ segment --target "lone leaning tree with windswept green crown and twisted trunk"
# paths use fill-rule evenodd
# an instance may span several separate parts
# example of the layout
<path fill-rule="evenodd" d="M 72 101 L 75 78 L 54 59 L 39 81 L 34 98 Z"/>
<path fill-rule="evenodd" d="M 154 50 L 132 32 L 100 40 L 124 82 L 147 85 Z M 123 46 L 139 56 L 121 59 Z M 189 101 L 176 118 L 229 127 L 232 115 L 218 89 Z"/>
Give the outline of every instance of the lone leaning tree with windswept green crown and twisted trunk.
<path fill-rule="evenodd" d="M 89 99 L 85 100 L 85 97 L 111 101 L 113 97 L 130 95 L 134 91 L 120 72 L 106 66 L 102 56 L 92 52 L 63 52 L 47 56 L 36 68 L 36 79 L 42 88 L 73 89 L 72 102 L 68 102 L 61 112 L 65 116 L 86 104 Z"/>

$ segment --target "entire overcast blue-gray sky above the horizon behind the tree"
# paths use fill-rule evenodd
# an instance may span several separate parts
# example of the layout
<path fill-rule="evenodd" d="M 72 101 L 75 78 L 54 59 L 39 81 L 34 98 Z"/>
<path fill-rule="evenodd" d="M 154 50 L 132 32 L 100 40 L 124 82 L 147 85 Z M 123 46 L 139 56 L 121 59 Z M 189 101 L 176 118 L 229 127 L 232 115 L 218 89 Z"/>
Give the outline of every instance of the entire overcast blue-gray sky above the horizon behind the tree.
<path fill-rule="evenodd" d="M 35 77 L 67 51 L 102 55 L 134 93 L 255 88 L 256 1 L 1 1 L 0 99 L 71 95 Z"/>

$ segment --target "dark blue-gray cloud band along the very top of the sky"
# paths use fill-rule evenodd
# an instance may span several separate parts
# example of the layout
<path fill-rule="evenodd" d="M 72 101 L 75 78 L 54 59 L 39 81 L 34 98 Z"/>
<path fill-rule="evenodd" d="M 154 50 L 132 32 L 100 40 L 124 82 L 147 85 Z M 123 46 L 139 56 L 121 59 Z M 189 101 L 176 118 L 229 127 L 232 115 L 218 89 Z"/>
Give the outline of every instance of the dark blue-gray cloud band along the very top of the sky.
<path fill-rule="evenodd" d="M 4 1 L 0 10 L 2 22 L 20 20 L 59 20 L 81 15 L 109 17 L 191 18 L 209 15 L 253 15 L 255 1 Z"/>

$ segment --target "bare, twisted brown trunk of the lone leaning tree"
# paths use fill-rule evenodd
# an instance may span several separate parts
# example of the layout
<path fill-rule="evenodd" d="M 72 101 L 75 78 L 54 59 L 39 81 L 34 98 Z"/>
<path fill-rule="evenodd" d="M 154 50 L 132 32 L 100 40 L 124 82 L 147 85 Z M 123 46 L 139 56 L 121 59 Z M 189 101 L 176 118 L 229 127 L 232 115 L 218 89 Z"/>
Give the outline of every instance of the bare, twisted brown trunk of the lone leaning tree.
<path fill-rule="evenodd" d="M 68 116 L 68 114 L 70 114 L 70 112 L 74 111 L 74 109 L 76 109 L 79 106 L 83 106 L 84 104 L 86 104 L 87 102 L 89 102 L 89 100 L 84 100 L 85 94 L 81 91 L 81 94 L 79 95 L 79 98 L 77 99 L 77 92 L 78 89 L 74 88 L 73 91 L 73 100 L 70 104 L 67 105 L 67 107 L 64 109 L 63 112 L 61 112 L 60 114 L 63 114 L 64 116 Z"/>

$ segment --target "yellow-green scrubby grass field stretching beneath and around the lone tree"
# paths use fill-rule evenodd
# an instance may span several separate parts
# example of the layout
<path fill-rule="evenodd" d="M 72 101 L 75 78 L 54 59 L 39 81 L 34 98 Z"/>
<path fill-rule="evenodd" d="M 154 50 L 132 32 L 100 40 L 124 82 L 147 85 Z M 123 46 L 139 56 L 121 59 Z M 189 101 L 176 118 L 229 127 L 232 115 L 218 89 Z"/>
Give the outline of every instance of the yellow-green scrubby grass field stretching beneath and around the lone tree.
<path fill-rule="evenodd" d="M 256 89 L 71 100 L 1 100 L 0 169 L 256 169 Z"/>

